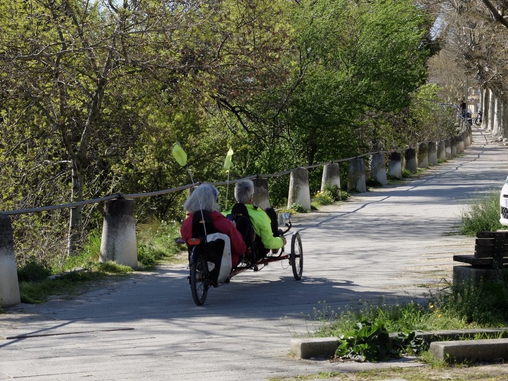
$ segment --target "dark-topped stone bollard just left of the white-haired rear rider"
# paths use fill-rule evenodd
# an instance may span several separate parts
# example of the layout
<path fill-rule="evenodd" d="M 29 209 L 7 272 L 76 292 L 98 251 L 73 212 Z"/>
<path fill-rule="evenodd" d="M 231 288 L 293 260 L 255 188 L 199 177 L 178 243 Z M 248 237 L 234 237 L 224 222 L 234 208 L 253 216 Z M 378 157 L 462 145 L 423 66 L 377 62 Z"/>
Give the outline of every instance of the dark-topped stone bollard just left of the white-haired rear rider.
<path fill-rule="evenodd" d="M 134 200 L 109 200 L 104 203 L 100 262 L 114 261 L 137 267 Z"/>

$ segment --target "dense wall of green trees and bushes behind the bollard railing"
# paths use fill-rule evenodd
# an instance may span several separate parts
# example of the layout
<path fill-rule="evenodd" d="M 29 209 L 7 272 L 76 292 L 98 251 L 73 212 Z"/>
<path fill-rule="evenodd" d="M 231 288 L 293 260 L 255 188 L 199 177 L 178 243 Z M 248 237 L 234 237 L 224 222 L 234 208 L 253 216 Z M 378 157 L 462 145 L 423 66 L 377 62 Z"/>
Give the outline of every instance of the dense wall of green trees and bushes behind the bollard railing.
<path fill-rule="evenodd" d="M 394 115 L 409 107 L 425 76 L 428 20 L 408 0 L 228 0 L 172 12 L 153 2 L 121 7 L 3 5 L 4 209 L 188 183 L 172 159 L 176 141 L 197 181 L 225 180 L 220 168 L 229 146 L 232 179 L 391 148 L 405 128 L 392 123 Z M 133 33 L 124 30 L 134 24 Z M 309 172 L 313 193 L 319 172 Z M 272 205 L 287 204 L 289 181 L 270 179 Z M 229 205 L 232 194 L 224 199 Z M 330 196 L 340 199 L 337 190 Z M 184 198 L 139 199 L 137 218 L 180 221 Z M 90 235 L 101 226 L 101 207 L 81 213 L 72 231 L 86 246 L 72 259 L 68 209 L 15 217 L 18 263 L 35 256 L 58 272 L 96 261 Z M 171 243 L 141 240 L 140 262 L 168 256 L 166 247 Z"/>

